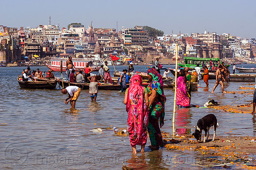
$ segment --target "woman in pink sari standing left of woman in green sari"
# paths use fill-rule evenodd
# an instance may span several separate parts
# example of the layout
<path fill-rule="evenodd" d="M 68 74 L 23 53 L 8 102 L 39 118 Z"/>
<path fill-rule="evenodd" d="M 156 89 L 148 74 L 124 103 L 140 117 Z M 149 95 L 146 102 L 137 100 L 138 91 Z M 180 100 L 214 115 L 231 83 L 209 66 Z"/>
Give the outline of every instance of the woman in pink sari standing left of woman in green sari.
<path fill-rule="evenodd" d="M 125 91 L 123 103 L 128 113 L 127 131 L 133 153 L 136 154 L 136 145 L 141 145 L 141 152 L 144 152 L 147 140 L 149 101 L 146 88 L 141 86 L 141 76 L 134 75 L 130 81 L 131 85 Z"/>

